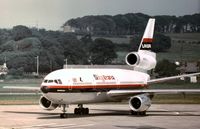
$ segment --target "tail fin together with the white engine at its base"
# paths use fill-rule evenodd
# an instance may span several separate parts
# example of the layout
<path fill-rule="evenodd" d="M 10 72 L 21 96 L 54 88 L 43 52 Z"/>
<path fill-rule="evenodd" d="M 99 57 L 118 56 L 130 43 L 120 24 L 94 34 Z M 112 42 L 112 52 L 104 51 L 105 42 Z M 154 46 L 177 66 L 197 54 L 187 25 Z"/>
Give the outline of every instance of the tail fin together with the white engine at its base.
<path fill-rule="evenodd" d="M 155 19 L 150 18 L 144 31 L 138 52 L 130 52 L 126 55 L 126 63 L 134 67 L 134 70 L 147 71 L 156 66 L 156 53 L 151 51 Z"/>

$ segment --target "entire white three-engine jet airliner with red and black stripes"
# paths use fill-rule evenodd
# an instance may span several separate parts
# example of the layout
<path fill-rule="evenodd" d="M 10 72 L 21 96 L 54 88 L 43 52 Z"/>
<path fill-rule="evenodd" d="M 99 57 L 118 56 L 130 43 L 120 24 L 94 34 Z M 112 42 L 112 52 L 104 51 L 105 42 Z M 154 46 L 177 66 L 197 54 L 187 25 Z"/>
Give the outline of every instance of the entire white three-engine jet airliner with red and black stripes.
<path fill-rule="evenodd" d="M 150 79 L 148 71 L 156 66 L 156 53 L 151 51 L 155 19 L 150 18 L 137 52 L 127 54 L 126 63 L 135 70 L 125 69 L 61 69 L 48 74 L 41 84 L 39 104 L 43 109 L 62 108 L 61 118 L 67 117 L 66 108 L 77 104 L 74 114 L 88 114 L 83 104 L 113 102 L 129 99 L 133 115 L 145 115 L 154 94 L 191 92 L 199 89 L 148 89 L 149 84 L 200 73 Z M 143 69 L 141 72 L 137 69 Z M 11 88 L 11 87 L 10 87 Z M 16 88 L 16 87 L 13 87 Z"/>

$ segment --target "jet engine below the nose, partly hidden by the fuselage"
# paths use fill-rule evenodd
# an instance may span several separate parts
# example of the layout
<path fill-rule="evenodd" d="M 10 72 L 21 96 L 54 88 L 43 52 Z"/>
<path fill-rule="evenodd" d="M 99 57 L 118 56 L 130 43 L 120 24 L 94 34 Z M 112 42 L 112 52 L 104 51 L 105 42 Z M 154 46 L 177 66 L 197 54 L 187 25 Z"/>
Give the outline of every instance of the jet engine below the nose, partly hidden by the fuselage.
<path fill-rule="evenodd" d="M 44 96 L 40 97 L 39 104 L 45 110 L 54 110 L 58 107 L 58 104 L 52 103 L 50 100 L 48 100 Z"/>

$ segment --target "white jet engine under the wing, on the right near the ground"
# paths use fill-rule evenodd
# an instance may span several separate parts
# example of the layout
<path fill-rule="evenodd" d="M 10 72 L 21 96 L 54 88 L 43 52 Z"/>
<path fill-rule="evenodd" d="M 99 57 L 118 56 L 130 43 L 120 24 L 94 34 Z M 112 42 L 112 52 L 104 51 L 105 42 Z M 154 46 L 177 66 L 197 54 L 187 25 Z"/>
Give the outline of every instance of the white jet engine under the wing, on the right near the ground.
<path fill-rule="evenodd" d="M 133 96 L 129 100 L 129 107 L 135 112 L 146 111 L 150 106 L 151 99 L 146 94 Z"/>

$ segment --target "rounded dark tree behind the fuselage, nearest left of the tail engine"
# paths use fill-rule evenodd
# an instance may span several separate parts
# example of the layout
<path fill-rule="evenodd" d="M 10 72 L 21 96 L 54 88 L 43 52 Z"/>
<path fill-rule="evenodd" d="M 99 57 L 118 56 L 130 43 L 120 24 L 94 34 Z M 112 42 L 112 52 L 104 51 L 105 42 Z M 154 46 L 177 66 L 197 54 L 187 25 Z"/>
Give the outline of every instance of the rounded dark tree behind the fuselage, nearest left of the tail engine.
<path fill-rule="evenodd" d="M 112 60 L 117 58 L 115 45 L 112 41 L 103 38 L 94 40 L 89 53 L 90 63 L 92 64 L 111 64 Z"/>

